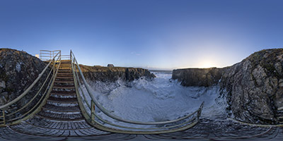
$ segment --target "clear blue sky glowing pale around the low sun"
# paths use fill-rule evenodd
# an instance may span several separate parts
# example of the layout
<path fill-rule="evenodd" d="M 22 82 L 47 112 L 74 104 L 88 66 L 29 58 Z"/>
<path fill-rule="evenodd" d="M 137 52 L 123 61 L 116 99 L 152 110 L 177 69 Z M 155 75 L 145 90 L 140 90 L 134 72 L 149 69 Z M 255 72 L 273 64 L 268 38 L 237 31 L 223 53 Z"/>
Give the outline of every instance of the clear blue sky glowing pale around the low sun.
<path fill-rule="evenodd" d="M 281 0 L 0 0 L 0 48 L 91 66 L 224 67 L 282 47 Z"/>

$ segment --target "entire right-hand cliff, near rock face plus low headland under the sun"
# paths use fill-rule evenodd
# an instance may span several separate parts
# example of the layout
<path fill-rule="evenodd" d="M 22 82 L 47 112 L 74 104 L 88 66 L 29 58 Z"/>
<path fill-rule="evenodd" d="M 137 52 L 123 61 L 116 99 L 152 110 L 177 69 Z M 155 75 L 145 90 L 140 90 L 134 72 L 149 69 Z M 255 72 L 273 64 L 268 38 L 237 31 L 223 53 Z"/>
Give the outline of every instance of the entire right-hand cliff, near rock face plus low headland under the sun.
<path fill-rule="evenodd" d="M 283 106 L 283 49 L 265 49 L 226 68 L 173 71 L 183 86 L 220 85 L 233 118 L 248 123 L 278 124 Z"/>

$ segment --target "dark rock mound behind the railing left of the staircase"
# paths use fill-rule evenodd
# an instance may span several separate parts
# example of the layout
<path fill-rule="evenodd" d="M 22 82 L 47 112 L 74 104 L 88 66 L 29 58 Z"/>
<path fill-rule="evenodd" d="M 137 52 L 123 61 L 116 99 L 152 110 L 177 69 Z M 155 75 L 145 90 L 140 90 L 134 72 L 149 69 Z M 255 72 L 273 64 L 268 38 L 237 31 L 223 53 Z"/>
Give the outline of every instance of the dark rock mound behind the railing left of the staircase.
<path fill-rule="evenodd" d="M 0 105 L 4 105 L 22 94 L 45 68 L 45 63 L 25 51 L 0 49 Z M 37 92 L 38 86 L 46 78 L 42 75 L 26 97 L 14 105 L 23 106 Z"/>

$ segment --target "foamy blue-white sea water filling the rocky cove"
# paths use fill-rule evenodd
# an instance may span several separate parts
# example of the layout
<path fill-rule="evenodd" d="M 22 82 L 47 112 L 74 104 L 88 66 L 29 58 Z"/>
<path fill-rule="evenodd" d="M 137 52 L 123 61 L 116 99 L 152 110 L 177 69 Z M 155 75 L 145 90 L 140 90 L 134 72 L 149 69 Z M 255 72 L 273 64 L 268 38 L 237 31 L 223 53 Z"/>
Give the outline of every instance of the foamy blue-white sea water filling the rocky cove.
<path fill-rule="evenodd" d="M 156 78 L 140 78 L 125 83 L 90 82 L 98 102 L 112 114 L 132 121 L 168 121 L 192 113 L 204 102 L 202 118 L 217 118 L 226 114 L 226 100 L 219 97 L 219 86 L 183 87 L 171 80 L 171 71 L 153 71 Z M 99 110 L 108 121 L 112 120 Z"/>

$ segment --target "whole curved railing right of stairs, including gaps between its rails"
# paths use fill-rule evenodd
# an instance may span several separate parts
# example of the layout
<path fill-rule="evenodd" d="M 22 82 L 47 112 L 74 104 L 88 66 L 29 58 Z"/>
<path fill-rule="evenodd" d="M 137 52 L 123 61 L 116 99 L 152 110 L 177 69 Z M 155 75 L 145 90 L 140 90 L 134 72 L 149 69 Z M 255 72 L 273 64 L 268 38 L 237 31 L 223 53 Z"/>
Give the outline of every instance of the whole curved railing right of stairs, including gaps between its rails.
<path fill-rule="evenodd" d="M 129 134 L 160 134 L 173 133 L 180 130 L 186 130 L 194 126 L 200 121 L 200 115 L 204 102 L 200 108 L 187 116 L 183 116 L 172 121 L 159 122 L 141 122 L 131 121 L 120 118 L 110 111 L 105 109 L 98 100 L 94 97 L 91 88 L 88 86 L 86 79 L 83 76 L 79 63 L 76 61 L 74 53 L 70 52 L 71 68 L 74 75 L 74 84 L 76 87 L 76 94 L 79 101 L 81 113 L 86 118 L 86 121 L 94 127 L 112 133 L 129 133 Z M 83 89 L 86 91 L 84 92 Z M 90 102 L 86 97 L 90 97 Z M 102 111 L 103 114 L 121 124 L 116 124 L 111 121 L 103 119 L 96 111 Z M 137 125 L 139 127 L 137 127 Z M 142 127 L 141 127 L 142 126 Z"/>

